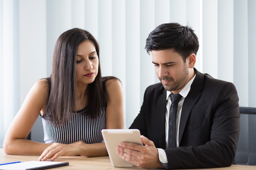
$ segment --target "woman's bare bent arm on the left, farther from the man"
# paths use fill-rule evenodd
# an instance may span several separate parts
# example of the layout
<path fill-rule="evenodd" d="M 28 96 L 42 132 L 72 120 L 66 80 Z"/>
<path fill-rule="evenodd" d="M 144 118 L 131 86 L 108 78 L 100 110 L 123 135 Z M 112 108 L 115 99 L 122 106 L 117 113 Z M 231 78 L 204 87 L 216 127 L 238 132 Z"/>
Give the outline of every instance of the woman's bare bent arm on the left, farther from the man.
<path fill-rule="evenodd" d="M 12 155 L 40 155 L 50 144 L 27 140 L 27 136 L 48 96 L 48 82 L 38 80 L 27 94 L 4 137 L 4 152 Z"/>

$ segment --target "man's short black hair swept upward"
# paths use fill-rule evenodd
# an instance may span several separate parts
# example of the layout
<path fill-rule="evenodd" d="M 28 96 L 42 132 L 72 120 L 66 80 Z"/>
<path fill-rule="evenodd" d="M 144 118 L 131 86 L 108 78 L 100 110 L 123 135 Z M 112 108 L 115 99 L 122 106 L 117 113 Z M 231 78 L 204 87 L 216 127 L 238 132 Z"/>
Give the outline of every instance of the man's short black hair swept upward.
<path fill-rule="evenodd" d="M 173 49 L 182 56 L 184 62 L 191 53 L 196 55 L 198 48 L 198 37 L 193 29 L 179 23 L 166 23 L 157 26 L 148 35 L 145 46 L 148 54 L 151 50 Z"/>

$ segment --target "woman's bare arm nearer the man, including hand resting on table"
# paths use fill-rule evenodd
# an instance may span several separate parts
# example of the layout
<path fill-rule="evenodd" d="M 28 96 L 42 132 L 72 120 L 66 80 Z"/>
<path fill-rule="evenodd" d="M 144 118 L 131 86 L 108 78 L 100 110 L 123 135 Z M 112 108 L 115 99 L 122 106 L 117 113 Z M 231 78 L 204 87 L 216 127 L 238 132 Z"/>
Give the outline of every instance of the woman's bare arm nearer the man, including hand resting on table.
<path fill-rule="evenodd" d="M 108 93 L 106 107 L 106 128 L 121 129 L 124 128 L 124 104 L 121 82 L 117 79 L 108 79 L 106 81 L 106 91 Z M 78 141 L 73 144 L 57 144 L 49 146 L 38 160 L 53 161 L 62 155 L 82 155 L 85 157 L 107 156 L 108 152 L 105 143 L 85 144 Z"/>

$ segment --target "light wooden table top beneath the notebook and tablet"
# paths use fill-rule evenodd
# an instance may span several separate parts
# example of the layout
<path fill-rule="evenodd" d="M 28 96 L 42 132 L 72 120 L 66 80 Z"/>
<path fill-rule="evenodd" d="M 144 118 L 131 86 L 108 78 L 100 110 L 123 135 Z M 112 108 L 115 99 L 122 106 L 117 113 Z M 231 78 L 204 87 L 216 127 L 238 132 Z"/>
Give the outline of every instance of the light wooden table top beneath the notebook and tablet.
<path fill-rule="evenodd" d="M 0 164 L 15 161 L 37 161 L 39 155 L 7 155 L 0 148 Z M 61 156 L 56 162 L 69 162 L 68 166 L 51 168 L 50 170 L 145 170 L 143 168 L 115 168 L 109 157 Z M 256 166 L 232 165 L 223 168 L 193 169 L 193 170 L 256 170 Z"/>

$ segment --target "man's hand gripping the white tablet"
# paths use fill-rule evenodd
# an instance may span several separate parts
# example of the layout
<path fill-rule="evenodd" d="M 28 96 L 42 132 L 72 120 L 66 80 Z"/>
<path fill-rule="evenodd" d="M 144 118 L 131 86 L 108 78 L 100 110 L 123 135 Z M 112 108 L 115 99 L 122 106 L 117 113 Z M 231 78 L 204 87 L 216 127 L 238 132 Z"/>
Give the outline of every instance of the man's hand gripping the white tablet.
<path fill-rule="evenodd" d="M 154 142 L 143 135 L 141 135 L 141 141 L 145 146 L 121 142 L 117 147 L 117 154 L 137 167 L 164 168 L 159 161 Z"/>

